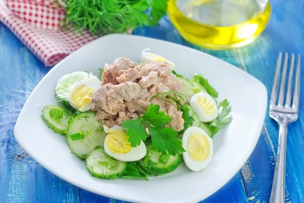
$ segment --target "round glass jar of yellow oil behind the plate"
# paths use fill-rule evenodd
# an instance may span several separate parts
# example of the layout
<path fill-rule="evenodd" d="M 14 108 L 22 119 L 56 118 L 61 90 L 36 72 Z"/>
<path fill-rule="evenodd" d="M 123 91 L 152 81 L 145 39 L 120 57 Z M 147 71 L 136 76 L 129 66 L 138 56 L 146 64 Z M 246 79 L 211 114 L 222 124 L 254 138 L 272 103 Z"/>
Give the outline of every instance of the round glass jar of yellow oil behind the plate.
<path fill-rule="evenodd" d="M 266 27 L 268 0 L 169 0 L 168 14 L 187 41 L 210 49 L 242 47 Z"/>

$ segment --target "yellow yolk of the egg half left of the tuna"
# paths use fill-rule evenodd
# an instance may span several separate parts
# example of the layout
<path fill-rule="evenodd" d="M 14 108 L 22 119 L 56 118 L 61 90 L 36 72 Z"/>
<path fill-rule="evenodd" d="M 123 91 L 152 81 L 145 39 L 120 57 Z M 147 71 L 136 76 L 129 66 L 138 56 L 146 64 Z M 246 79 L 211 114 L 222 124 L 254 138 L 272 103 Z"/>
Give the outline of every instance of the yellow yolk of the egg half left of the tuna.
<path fill-rule="evenodd" d="M 93 92 L 94 89 L 91 87 L 78 87 L 72 94 L 73 105 L 75 105 L 80 111 L 83 111 L 83 109 L 90 105 Z"/>

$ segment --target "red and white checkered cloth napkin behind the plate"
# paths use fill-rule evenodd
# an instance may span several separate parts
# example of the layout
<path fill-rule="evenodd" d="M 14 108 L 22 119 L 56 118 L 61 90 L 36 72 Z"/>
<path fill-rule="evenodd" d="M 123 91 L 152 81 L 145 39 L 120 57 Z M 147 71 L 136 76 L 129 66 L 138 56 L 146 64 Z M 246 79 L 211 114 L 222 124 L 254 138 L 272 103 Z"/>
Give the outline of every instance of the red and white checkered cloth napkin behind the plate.
<path fill-rule="evenodd" d="M 58 28 L 64 10 L 55 0 L 0 0 L 0 21 L 46 66 L 97 38 L 87 32 L 74 34 Z"/>

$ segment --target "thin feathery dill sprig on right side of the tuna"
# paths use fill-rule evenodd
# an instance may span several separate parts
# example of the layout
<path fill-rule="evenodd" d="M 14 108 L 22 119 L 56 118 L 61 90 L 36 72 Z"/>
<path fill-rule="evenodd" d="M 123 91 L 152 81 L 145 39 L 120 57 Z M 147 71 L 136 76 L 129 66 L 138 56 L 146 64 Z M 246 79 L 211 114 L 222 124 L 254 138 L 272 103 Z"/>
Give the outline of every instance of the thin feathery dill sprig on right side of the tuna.
<path fill-rule="evenodd" d="M 183 105 L 188 102 L 187 96 L 177 91 L 166 91 L 158 93 L 151 98 L 151 101 L 153 101 L 155 98 L 165 101 L 166 103 L 176 105 Z"/>

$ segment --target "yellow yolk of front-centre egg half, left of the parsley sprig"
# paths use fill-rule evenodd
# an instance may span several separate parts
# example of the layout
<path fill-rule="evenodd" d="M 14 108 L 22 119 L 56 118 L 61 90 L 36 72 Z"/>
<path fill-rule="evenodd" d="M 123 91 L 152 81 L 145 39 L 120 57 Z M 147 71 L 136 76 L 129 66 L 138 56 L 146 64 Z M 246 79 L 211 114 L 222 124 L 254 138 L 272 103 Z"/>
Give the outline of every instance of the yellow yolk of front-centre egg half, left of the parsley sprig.
<path fill-rule="evenodd" d="M 111 152 L 125 154 L 131 150 L 131 144 L 128 139 L 129 137 L 124 130 L 109 129 L 104 142 Z"/>

